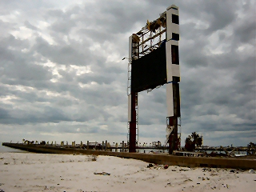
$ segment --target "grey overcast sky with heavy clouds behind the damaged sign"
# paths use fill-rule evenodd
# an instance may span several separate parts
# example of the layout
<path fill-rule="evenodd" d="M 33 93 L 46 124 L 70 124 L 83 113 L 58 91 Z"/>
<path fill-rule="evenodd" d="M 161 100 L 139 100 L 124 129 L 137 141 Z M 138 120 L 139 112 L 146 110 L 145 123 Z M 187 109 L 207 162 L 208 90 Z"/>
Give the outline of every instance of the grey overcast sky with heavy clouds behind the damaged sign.
<path fill-rule="evenodd" d="M 256 141 L 255 1 L 0 1 L 0 141 L 126 142 L 128 38 L 179 7 L 182 146 Z M 166 86 L 138 94 L 165 142 Z"/>

